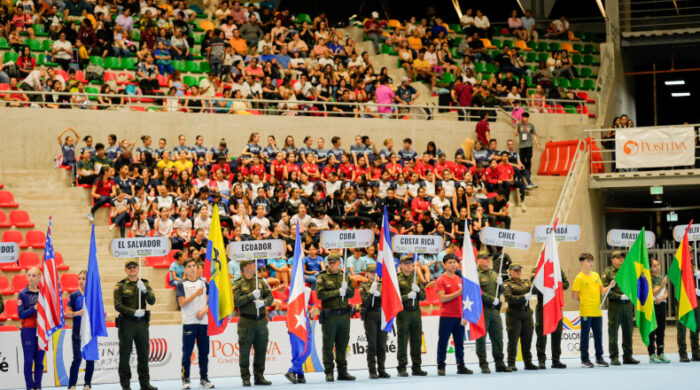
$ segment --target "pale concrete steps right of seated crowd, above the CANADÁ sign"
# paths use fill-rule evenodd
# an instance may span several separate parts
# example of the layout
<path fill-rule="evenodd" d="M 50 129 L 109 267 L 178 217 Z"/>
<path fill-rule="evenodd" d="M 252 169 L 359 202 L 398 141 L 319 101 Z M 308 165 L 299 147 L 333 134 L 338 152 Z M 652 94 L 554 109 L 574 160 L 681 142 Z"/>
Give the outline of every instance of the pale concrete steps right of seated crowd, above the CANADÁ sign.
<path fill-rule="evenodd" d="M 525 197 L 526 211 L 522 211 L 520 207 L 516 206 L 516 204 L 519 204 L 516 203 L 517 191 L 511 192 L 510 210 L 512 220 L 510 228 L 533 233 L 535 226 L 549 224 L 565 180 L 565 176 L 533 176 L 532 181 L 539 187 L 528 191 L 528 195 Z M 511 249 L 506 251 L 514 262 L 518 262 L 525 267 L 526 273 L 523 275 L 528 276 L 530 275 L 530 269 L 537 263 L 540 250 L 542 249 L 542 243 L 534 242 L 534 235 L 532 239 L 533 242 L 528 250 Z"/>

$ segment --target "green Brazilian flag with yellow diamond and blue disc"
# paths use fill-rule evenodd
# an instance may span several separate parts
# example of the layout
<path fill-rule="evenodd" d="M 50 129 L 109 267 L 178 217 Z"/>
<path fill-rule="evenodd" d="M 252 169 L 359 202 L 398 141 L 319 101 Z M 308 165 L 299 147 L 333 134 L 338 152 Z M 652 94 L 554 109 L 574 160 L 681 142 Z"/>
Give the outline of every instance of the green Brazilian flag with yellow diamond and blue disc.
<path fill-rule="evenodd" d="M 644 228 L 617 271 L 615 282 L 632 302 L 636 302 L 637 327 L 644 345 L 649 346 L 649 334 L 656 329 L 656 314 Z"/>

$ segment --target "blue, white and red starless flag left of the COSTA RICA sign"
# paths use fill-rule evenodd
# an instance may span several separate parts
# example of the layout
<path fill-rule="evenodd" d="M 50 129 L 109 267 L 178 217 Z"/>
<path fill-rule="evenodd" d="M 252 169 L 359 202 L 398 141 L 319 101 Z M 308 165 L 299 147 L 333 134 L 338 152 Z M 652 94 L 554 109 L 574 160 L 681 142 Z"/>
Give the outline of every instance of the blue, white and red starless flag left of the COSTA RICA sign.
<path fill-rule="evenodd" d="M 391 250 L 391 236 L 389 235 L 389 218 L 382 217 L 382 235 L 379 237 L 377 253 L 377 276 L 382 279 L 382 330 L 391 332 L 396 315 L 403 310 L 401 293 L 399 292 L 399 279 L 396 276 L 396 261 Z"/>

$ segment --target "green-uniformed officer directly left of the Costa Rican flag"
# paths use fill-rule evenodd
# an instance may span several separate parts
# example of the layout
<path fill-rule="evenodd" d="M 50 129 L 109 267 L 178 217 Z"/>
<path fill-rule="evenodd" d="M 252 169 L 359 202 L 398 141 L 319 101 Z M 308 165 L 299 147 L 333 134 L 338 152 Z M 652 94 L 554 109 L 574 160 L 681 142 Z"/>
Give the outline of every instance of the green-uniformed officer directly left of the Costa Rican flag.
<path fill-rule="evenodd" d="M 377 266 L 370 264 L 365 269 L 367 281 L 360 285 L 362 298 L 362 321 L 367 338 L 367 367 L 370 379 L 391 378 L 384 369 L 386 361 L 386 336 L 382 330 L 382 285 L 376 275 Z"/>

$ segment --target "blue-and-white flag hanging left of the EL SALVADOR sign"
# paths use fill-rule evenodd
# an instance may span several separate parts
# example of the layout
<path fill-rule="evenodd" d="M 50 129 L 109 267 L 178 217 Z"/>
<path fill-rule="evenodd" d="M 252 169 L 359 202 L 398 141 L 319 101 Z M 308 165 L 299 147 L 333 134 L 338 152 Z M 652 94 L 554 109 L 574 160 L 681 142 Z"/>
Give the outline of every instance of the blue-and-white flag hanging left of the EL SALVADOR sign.
<path fill-rule="evenodd" d="M 85 278 L 85 303 L 82 318 L 80 320 L 80 349 L 83 359 L 100 360 L 97 349 L 97 337 L 107 337 L 107 325 L 105 324 L 105 308 L 102 301 L 102 284 L 100 282 L 100 269 L 97 265 L 97 245 L 95 244 L 95 225 L 92 225 L 92 237 L 90 238 L 90 254 L 88 269 Z"/>

